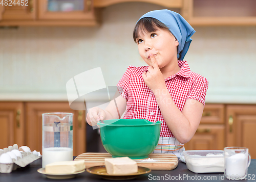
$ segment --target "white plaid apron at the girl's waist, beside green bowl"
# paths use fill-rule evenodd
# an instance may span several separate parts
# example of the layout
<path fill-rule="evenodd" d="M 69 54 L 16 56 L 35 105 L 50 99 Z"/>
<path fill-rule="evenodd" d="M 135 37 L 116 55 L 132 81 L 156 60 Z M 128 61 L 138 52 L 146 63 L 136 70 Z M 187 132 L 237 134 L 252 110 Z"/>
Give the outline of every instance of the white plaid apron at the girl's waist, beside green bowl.
<path fill-rule="evenodd" d="M 156 149 L 152 153 L 174 153 L 178 158 L 185 151 L 184 144 L 174 137 L 160 137 Z"/>

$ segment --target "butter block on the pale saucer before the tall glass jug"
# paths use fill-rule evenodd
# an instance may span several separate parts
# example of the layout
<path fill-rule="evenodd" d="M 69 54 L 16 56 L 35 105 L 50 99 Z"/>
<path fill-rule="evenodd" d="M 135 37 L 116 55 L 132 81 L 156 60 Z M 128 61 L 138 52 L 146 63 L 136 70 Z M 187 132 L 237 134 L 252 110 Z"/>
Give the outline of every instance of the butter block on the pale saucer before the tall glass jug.
<path fill-rule="evenodd" d="M 86 168 L 84 160 L 80 161 L 61 161 L 46 165 L 46 173 L 49 174 L 71 174 Z"/>

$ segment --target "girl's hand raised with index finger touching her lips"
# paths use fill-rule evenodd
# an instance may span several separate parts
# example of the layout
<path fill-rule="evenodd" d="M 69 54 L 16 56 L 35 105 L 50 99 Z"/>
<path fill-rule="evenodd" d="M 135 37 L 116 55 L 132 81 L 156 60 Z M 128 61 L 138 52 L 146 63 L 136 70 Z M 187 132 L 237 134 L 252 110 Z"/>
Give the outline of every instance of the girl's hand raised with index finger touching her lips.
<path fill-rule="evenodd" d="M 156 91 L 156 89 L 160 89 L 163 86 L 165 86 L 165 81 L 162 72 L 160 71 L 157 60 L 154 57 L 153 54 L 150 54 L 150 59 L 152 66 L 148 67 L 148 71 L 144 71 L 142 73 L 142 78 L 147 85 L 148 88 L 150 88 L 153 92 Z"/>

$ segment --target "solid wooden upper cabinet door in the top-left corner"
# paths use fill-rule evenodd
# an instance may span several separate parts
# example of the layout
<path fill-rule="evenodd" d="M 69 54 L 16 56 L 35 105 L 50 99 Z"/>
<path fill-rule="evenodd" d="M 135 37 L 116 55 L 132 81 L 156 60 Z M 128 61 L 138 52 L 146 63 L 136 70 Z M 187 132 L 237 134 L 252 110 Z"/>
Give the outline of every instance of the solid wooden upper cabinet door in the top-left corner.
<path fill-rule="evenodd" d="M 3 4 L 4 6 L 0 5 L 0 20 L 33 20 L 36 18 L 36 0 L 8 0 L 3 1 Z"/>

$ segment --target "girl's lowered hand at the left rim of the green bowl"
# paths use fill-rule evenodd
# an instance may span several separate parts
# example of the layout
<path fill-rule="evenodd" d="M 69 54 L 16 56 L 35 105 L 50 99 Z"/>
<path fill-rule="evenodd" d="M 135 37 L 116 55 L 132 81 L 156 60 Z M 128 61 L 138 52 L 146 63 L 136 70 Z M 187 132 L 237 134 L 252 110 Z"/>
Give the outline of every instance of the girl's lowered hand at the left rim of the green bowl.
<path fill-rule="evenodd" d="M 86 116 L 86 121 L 89 125 L 95 126 L 99 120 L 103 120 L 106 117 L 106 113 L 103 109 L 94 107 L 89 110 Z"/>

